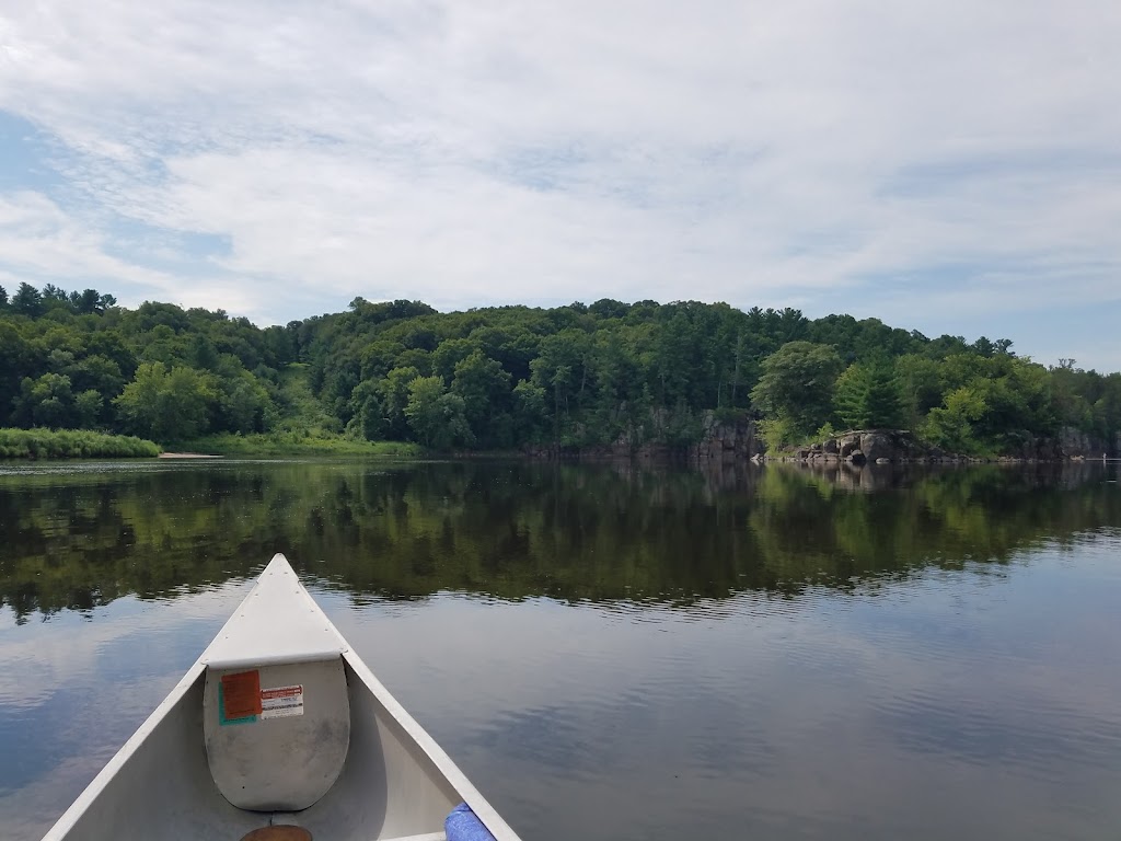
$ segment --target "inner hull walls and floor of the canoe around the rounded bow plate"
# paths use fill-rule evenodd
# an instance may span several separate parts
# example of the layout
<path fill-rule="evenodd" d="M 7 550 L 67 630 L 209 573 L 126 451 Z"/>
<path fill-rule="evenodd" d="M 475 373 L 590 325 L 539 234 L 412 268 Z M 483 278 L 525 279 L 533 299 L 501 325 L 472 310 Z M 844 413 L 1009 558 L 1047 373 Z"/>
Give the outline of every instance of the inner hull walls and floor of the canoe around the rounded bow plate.
<path fill-rule="evenodd" d="M 270 820 L 304 826 L 315 841 L 442 838 L 444 819 L 464 796 L 386 710 L 351 656 L 343 655 L 350 750 L 339 779 L 311 807 L 284 815 L 247 812 L 219 793 L 203 741 L 205 668 L 200 666 L 193 681 L 188 673 L 179 685 L 178 696 L 167 699 L 163 717 L 138 732 L 120 764 L 106 768 L 113 773 L 95 780 L 84 808 L 70 813 L 73 823 L 56 826 L 58 834 L 48 838 L 239 841 Z"/>

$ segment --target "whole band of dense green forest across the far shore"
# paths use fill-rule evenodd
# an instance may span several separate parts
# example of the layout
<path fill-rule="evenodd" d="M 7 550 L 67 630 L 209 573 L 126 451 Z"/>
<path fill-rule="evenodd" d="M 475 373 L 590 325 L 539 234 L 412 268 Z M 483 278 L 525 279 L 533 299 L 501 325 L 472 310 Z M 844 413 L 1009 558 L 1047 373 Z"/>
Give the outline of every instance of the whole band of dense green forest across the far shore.
<path fill-rule="evenodd" d="M 370 303 L 260 329 L 94 289 L 0 288 L 0 427 L 160 444 L 260 436 L 434 450 L 686 446 L 707 413 L 772 449 L 909 428 L 946 451 L 1114 451 L 1121 375 L 1045 367 L 1007 340 L 936 339 L 849 315 L 602 299 L 438 313 Z"/>

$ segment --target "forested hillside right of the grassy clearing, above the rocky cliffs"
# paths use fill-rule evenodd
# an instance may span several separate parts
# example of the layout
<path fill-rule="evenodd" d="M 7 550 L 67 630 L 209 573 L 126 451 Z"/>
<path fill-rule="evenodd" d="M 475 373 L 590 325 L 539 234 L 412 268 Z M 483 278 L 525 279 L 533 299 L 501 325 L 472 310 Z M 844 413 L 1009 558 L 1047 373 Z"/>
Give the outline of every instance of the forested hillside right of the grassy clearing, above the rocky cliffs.
<path fill-rule="evenodd" d="M 313 388 L 353 434 L 438 447 L 685 445 L 708 410 L 761 418 L 772 447 L 880 426 L 1031 455 L 1064 429 L 1110 449 L 1121 431 L 1121 375 L 877 318 L 609 299 L 442 314 L 358 298 L 299 330 Z"/>

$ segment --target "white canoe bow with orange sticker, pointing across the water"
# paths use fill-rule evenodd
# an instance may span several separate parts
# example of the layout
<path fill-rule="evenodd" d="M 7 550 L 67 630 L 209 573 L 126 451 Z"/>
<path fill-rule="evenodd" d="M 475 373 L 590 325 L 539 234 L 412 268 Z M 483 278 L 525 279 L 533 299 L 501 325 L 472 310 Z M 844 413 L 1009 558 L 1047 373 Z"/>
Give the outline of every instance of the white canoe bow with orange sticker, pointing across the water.
<path fill-rule="evenodd" d="M 442 841 L 461 803 L 518 841 L 276 555 L 44 841 Z"/>

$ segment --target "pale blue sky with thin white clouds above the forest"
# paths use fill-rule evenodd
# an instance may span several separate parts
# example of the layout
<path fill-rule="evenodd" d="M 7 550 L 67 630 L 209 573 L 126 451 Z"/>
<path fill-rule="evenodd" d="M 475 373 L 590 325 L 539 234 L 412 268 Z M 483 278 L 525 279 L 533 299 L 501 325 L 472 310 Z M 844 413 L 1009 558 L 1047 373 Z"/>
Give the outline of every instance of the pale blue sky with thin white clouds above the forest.
<path fill-rule="evenodd" d="M 0 0 L 0 286 L 723 301 L 1121 370 L 1117 0 Z"/>

